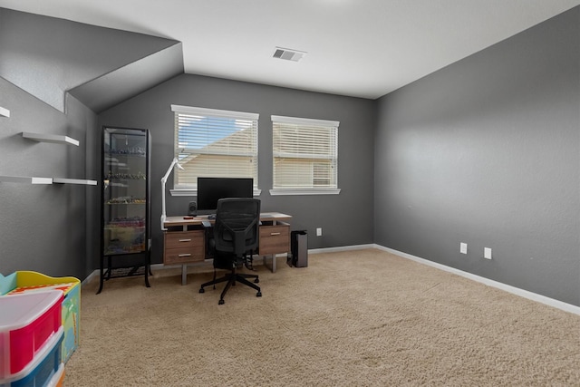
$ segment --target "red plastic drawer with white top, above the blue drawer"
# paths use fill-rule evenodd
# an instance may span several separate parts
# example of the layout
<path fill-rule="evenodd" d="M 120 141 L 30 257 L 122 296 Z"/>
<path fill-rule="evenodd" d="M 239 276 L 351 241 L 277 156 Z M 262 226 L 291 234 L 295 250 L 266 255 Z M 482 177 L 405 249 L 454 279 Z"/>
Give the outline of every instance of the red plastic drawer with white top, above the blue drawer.
<path fill-rule="evenodd" d="M 63 332 L 63 292 L 0 297 L 0 380 L 14 379 Z"/>

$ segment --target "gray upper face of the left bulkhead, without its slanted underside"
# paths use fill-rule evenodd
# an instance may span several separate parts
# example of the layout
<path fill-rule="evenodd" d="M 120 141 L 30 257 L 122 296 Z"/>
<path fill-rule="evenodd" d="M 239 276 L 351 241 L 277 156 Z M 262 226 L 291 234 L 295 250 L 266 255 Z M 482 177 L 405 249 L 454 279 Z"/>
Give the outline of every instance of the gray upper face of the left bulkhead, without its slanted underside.
<path fill-rule="evenodd" d="M 0 76 L 60 111 L 65 92 L 173 44 L 160 37 L 0 8 Z M 140 67 L 135 73 L 152 78 L 150 71 Z M 125 78 L 118 82 L 130 82 L 126 87 L 139 83 Z"/>

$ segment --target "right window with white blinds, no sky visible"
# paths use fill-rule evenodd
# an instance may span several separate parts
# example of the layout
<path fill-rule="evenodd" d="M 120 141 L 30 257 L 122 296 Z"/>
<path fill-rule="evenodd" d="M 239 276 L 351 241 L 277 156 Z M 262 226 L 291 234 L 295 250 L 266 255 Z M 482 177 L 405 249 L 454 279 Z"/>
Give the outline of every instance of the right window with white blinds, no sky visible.
<path fill-rule="evenodd" d="M 337 194 L 338 121 L 272 116 L 272 195 Z"/>

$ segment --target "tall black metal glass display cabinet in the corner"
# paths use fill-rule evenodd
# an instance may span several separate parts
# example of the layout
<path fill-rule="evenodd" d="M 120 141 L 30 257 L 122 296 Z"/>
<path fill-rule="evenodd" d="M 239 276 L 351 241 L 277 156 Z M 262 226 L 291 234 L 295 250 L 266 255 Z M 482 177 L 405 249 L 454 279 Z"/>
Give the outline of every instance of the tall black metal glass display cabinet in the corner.
<path fill-rule="evenodd" d="M 150 132 L 102 128 L 101 293 L 104 281 L 144 276 L 150 287 Z"/>

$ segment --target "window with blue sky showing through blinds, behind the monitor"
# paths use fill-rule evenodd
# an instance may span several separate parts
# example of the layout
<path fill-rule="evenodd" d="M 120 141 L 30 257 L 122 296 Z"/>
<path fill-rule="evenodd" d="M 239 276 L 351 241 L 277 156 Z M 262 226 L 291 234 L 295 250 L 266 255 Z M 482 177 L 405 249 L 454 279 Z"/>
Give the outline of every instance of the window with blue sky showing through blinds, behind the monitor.
<path fill-rule="evenodd" d="M 257 189 L 258 114 L 171 105 L 175 112 L 172 195 L 196 195 L 198 176 L 252 178 Z"/>

